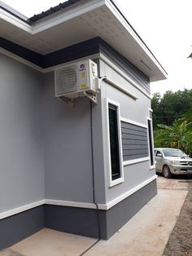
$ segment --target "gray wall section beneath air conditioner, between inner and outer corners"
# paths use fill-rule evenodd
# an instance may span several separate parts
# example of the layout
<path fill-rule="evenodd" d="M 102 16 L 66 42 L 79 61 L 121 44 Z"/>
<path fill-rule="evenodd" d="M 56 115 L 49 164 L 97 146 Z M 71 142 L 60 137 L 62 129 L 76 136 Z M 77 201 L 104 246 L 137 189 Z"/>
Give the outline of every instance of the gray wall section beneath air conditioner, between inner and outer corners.
<path fill-rule="evenodd" d="M 104 201 L 103 166 L 99 159 L 103 145 L 100 105 L 90 108 L 89 99 L 76 99 L 73 106 L 55 98 L 54 73 L 44 76 L 44 138 L 46 198 L 93 202 L 90 111 L 93 115 L 94 168 L 98 193 Z M 102 126 L 101 126 L 102 127 Z M 98 139 L 99 138 L 99 139 Z"/>

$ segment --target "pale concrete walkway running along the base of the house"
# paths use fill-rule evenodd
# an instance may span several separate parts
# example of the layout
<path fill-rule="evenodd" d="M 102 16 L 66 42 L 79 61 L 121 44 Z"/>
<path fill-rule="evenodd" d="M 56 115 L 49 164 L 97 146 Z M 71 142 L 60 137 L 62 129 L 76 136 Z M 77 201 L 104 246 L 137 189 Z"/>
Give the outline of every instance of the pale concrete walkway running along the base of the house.
<path fill-rule="evenodd" d="M 172 232 L 186 190 L 159 189 L 129 223 L 108 241 L 99 241 L 85 256 L 161 256 Z M 44 229 L 0 252 L 0 256 L 79 256 L 95 239 Z"/>

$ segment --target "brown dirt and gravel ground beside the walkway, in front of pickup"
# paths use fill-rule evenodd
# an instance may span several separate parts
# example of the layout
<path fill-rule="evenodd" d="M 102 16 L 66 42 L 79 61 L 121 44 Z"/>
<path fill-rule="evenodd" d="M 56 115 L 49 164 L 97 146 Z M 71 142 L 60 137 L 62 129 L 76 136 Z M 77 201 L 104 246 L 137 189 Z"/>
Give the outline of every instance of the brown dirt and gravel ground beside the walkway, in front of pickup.
<path fill-rule="evenodd" d="M 192 177 L 165 179 L 159 176 L 158 188 L 189 191 L 163 256 L 192 256 Z"/>

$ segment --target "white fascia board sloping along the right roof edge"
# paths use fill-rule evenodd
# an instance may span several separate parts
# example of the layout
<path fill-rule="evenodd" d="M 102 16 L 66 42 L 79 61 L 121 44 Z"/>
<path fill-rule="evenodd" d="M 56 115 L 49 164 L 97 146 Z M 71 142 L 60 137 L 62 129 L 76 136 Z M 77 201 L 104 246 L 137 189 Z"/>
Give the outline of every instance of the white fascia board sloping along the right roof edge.
<path fill-rule="evenodd" d="M 133 29 L 129 26 L 124 17 L 120 14 L 120 12 L 116 9 L 116 7 L 112 4 L 110 0 L 105 0 L 105 4 L 108 9 L 112 12 L 113 15 L 116 16 L 116 19 L 120 21 L 120 23 L 124 26 L 124 28 L 128 31 L 128 33 L 132 36 L 132 38 L 137 42 L 137 44 L 142 48 L 142 51 L 149 56 L 150 60 L 155 64 L 155 66 L 159 69 L 159 71 L 164 75 L 165 78 L 168 77 L 168 74 L 164 71 L 164 68 L 161 67 L 159 62 L 155 60 L 155 57 L 151 54 L 151 51 L 148 50 L 146 45 L 141 41 L 141 39 L 137 36 L 137 34 L 133 31 Z"/>

